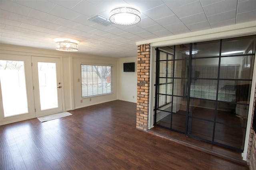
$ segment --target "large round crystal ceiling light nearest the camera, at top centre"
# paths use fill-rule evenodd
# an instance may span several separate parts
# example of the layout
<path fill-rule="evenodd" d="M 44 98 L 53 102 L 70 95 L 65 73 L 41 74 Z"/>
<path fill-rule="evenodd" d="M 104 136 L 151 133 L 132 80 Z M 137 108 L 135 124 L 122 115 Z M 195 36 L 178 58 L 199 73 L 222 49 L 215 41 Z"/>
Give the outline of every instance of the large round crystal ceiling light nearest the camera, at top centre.
<path fill-rule="evenodd" d="M 140 22 L 140 12 L 132 7 L 118 7 L 110 12 L 110 19 L 116 25 L 134 25 Z"/>

